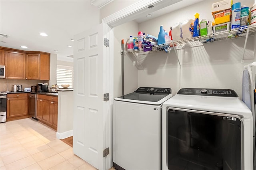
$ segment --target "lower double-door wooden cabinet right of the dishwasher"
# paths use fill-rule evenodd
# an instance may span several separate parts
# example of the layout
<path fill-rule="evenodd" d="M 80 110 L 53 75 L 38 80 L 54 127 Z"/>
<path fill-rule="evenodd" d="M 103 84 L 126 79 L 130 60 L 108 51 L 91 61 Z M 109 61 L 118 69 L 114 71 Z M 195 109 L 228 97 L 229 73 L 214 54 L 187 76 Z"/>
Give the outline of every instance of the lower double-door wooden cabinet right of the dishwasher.
<path fill-rule="evenodd" d="M 51 128 L 58 126 L 58 97 L 37 95 L 36 118 Z"/>

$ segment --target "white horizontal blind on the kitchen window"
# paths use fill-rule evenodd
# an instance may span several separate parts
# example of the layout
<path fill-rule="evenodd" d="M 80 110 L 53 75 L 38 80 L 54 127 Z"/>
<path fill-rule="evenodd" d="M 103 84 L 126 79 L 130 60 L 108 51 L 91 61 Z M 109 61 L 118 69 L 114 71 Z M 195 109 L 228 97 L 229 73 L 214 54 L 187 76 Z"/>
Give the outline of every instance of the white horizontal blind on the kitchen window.
<path fill-rule="evenodd" d="M 57 65 L 57 85 L 69 84 L 69 88 L 73 88 L 73 67 L 65 65 Z"/>

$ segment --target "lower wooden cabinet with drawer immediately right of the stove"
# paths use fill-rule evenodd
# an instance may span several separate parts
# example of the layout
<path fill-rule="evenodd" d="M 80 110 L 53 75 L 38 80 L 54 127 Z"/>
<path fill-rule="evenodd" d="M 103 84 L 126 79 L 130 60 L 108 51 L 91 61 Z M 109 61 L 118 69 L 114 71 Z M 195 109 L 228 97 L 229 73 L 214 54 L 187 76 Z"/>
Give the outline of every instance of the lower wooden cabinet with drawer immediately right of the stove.
<path fill-rule="evenodd" d="M 28 94 L 7 94 L 7 117 L 6 120 L 15 120 L 28 117 Z"/>

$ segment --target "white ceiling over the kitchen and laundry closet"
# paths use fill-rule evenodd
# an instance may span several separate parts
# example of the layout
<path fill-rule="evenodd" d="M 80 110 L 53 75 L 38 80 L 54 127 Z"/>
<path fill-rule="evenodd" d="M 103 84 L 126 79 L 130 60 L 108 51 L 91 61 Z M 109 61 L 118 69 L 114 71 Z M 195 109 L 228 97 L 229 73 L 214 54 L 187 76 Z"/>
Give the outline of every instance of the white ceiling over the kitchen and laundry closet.
<path fill-rule="evenodd" d="M 152 12 L 151 18 L 141 16 L 135 21 L 141 23 L 200 0 L 179 1 Z M 72 62 L 73 47 L 67 45 L 73 45 L 73 36 L 86 30 L 88 24 L 94 24 L 87 23 L 86 17 L 98 14 L 95 10 L 110 2 L 112 0 L 0 0 L 0 33 L 9 35 L 9 38 L 0 38 L 0 46 L 22 49 L 20 46 L 25 45 L 28 48 L 22 50 L 56 53 L 58 60 Z M 40 32 L 48 36 L 42 37 Z"/>

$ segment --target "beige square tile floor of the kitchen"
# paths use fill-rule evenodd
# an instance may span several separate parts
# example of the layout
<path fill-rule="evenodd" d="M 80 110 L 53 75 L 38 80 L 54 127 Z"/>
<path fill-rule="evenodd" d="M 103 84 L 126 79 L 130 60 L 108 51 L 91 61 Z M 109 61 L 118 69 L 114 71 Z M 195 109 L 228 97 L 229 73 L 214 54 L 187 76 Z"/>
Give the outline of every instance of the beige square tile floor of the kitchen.
<path fill-rule="evenodd" d="M 96 170 L 32 118 L 0 123 L 1 170 Z M 113 169 L 113 168 L 112 168 Z"/>

